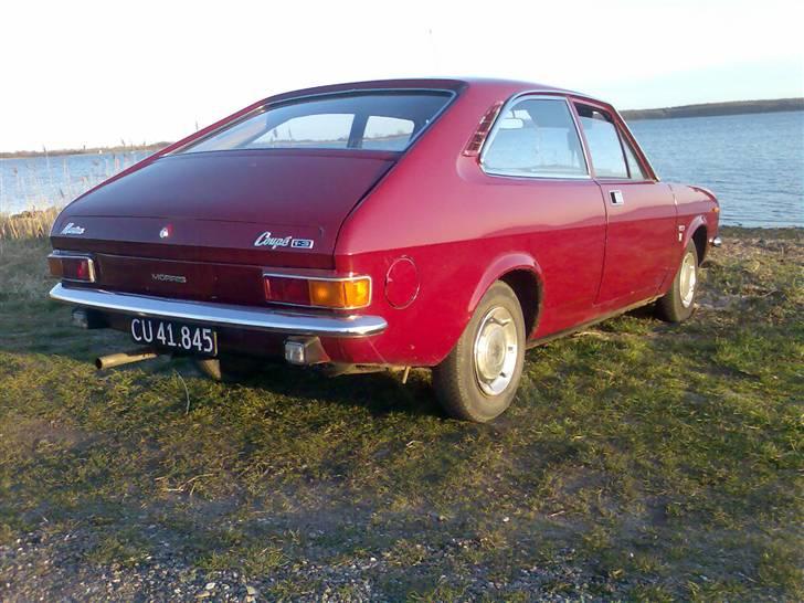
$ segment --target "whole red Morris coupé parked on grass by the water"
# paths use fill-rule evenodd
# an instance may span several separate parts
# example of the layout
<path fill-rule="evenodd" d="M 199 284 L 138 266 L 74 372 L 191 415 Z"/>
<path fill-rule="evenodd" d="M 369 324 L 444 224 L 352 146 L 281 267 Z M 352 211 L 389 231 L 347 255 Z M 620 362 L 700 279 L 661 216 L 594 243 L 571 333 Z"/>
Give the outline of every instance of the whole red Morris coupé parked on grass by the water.
<path fill-rule="evenodd" d="M 526 348 L 653 302 L 688 318 L 718 212 L 709 191 L 659 181 L 616 110 L 582 94 L 325 86 L 73 201 L 51 233 L 51 297 L 146 348 L 102 367 L 160 352 L 215 375 L 254 357 L 432 367 L 451 414 L 489 421 Z"/>

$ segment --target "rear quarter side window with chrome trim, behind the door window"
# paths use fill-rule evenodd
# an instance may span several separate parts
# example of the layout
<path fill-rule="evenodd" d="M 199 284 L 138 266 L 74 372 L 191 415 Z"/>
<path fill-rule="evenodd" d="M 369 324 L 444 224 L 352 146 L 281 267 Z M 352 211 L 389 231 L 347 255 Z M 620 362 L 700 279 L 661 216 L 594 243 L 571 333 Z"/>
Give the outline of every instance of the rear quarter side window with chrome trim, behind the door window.
<path fill-rule="evenodd" d="M 497 118 L 480 156 L 489 173 L 576 178 L 589 170 L 570 107 L 561 98 L 523 98 Z"/>

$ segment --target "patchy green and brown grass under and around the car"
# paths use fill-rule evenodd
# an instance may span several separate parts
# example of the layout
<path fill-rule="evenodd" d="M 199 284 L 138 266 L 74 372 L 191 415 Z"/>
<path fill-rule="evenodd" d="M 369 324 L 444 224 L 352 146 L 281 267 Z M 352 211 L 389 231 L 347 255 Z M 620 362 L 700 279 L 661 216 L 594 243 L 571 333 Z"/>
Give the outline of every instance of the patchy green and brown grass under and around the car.
<path fill-rule="evenodd" d="M 98 373 L 127 338 L 68 327 L 46 242 L 4 241 L 0 543 L 78 530 L 105 567 L 169 542 L 275 599 L 321 592 L 304 564 L 364 567 L 384 600 L 530 600 L 537 573 L 544 596 L 804 599 L 804 235 L 723 234 L 689 322 L 635 313 L 528 352 L 490 425 L 445 419 L 424 371 Z"/>

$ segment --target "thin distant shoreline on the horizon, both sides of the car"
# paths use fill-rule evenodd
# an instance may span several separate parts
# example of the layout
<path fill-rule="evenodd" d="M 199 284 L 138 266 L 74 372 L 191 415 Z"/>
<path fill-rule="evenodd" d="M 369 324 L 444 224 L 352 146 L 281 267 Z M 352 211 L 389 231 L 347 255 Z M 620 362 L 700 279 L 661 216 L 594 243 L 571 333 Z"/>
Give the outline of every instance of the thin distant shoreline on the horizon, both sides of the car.
<path fill-rule="evenodd" d="M 781 113 L 804 110 L 804 97 L 773 98 L 766 100 L 730 100 L 727 103 L 704 103 L 698 105 L 680 105 L 657 109 L 626 109 L 620 112 L 624 119 L 673 119 L 676 117 L 716 117 L 720 115 L 744 115 L 755 113 Z M 99 155 L 109 152 L 157 151 L 171 142 L 154 142 L 150 145 L 127 145 L 117 147 L 92 147 L 81 149 L 56 149 L 41 151 L 0 151 L 0 159 L 25 159 L 33 157 L 57 157 L 63 155 Z"/>

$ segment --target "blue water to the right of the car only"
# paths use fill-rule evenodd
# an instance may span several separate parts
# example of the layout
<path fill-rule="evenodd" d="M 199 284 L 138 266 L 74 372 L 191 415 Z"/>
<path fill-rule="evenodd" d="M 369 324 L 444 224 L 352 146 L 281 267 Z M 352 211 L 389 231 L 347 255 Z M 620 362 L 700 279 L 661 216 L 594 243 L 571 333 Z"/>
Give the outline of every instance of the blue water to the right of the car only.
<path fill-rule="evenodd" d="M 804 226 L 804 112 L 630 126 L 659 178 L 715 192 L 721 224 Z"/>

